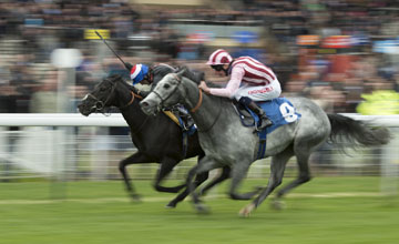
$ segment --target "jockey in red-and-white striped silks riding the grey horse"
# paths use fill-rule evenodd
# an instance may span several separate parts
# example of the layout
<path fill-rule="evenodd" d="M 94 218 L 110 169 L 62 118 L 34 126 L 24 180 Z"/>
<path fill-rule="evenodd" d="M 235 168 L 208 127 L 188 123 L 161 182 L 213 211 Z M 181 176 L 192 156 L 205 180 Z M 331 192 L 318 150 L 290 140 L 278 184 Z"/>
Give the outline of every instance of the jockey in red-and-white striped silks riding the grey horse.
<path fill-rule="evenodd" d="M 239 104 L 246 105 L 259 118 L 258 131 L 273 124 L 265 111 L 254 102 L 276 99 L 282 93 L 277 77 L 270 68 L 250 57 L 233 59 L 223 49 L 214 51 L 206 64 L 218 75 L 231 78 L 226 88 L 208 88 L 202 81 L 200 89 L 208 94 L 234 98 Z"/>

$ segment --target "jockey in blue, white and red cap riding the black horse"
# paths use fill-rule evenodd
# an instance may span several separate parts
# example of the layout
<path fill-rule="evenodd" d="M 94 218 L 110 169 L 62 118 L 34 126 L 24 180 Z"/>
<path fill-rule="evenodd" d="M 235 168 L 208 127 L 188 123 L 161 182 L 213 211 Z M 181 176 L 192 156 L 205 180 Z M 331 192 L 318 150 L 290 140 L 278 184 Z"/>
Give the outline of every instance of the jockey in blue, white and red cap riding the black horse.
<path fill-rule="evenodd" d="M 181 68 L 183 69 L 183 68 Z M 161 63 L 153 67 L 147 67 L 143 63 L 139 63 L 135 65 L 132 65 L 130 70 L 130 78 L 132 79 L 133 85 L 137 83 L 142 84 L 150 84 L 152 87 L 155 87 L 157 82 L 162 80 L 163 77 L 165 77 L 168 73 L 176 72 L 178 69 L 175 69 L 168 64 Z M 204 80 L 204 73 L 203 72 L 193 72 L 188 69 L 185 69 L 183 75 L 185 78 L 188 78 L 190 80 L 193 80 L 197 83 Z M 149 91 L 140 91 L 139 94 L 142 96 L 146 96 L 150 92 Z M 193 119 L 188 114 L 188 111 L 181 104 L 177 104 L 175 108 L 172 108 L 172 112 L 175 113 L 176 116 L 180 116 L 184 124 L 183 130 L 190 130 L 191 126 L 194 124 Z"/>

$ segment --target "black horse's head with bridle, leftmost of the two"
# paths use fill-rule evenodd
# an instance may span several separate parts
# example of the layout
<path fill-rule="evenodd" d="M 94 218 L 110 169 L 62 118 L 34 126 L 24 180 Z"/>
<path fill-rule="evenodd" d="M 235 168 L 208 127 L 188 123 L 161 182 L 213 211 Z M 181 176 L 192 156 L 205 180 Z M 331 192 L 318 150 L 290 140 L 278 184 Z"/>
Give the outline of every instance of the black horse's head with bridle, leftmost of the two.
<path fill-rule="evenodd" d="M 119 106 L 117 89 L 119 84 L 125 83 L 121 75 L 113 74 L 105 78 L 94 90 L 88 93 L 78 105 L 79 112 L 85 116 L 93 112 L 104 113 L 105 108 Z M 125 85 L 127 90 L 127 84 Z M 129 90 L 127 90 L 129 91 Z"/>

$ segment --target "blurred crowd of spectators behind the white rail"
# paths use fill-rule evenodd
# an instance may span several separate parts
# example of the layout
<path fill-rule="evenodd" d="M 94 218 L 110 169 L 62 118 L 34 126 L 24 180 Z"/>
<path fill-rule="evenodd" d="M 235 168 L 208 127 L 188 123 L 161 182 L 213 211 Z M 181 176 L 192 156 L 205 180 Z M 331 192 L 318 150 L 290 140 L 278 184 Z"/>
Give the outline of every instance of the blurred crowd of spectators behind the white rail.
<path fill-rule="evenodd" d="M 101 40 L 85 37 L 90 29 L 102 29 L 132 63 L 188 65 L 205 71 L 209 81 L 225 82 L 204 64 L 212 51 L 224 48 L 265 62 L 277 73 L 284 95 L 308 96 L 328 112 L 359 112 L 361 102 L 377 99 L 392 104 L 390 114 L 399 113 L 397 1 L 167 2 L 0 0 L 0 112 L 75 112 L 76 102 L 102 78 L 117 72 L 129 79 Z M 198 32 L 200 27 L 211 31 Z M 258 31 L 237 40 L 213 33 L 213 27 Z M 61 48 L 81 51 L 75 69 L 52 64 L 53 50 Z M 377 91 L 387 93 L 372 96 Z"/>

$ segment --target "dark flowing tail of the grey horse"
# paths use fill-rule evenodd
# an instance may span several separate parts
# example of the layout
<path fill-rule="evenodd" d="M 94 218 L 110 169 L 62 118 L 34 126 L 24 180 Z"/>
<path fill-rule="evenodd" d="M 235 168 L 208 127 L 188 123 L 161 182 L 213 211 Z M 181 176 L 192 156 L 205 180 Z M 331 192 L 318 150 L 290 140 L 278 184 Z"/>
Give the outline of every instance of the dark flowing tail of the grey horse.
<path fill-rule="evenodd" d="M 329 139 L 332 143 L 346 142 L 350 148 L 387 144 L 391 135 L 387 128 L 376 128 L 340 114 L 327 114 L 331 124 Z M 341 148 L 341 143 L 337 143 Z"/>

